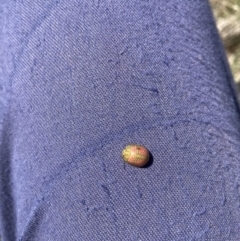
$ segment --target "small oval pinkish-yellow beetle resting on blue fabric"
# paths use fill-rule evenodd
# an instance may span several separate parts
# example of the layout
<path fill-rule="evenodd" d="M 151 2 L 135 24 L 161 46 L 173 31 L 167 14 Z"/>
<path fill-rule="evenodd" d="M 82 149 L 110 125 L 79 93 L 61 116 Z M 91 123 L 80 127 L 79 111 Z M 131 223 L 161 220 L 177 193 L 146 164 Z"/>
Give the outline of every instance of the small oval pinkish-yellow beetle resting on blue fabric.
<path fill-rule="evenodd" d="M 146 147 L 136 144 L 126 146 L 122 151 L 122 158 L 135 167 L 143 167 L 149 161 L 149 151 Z"/>

